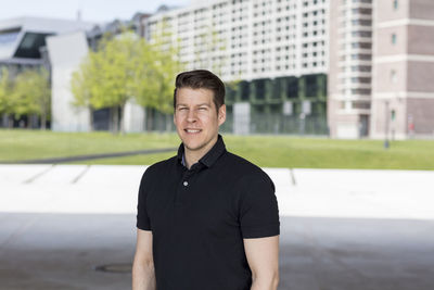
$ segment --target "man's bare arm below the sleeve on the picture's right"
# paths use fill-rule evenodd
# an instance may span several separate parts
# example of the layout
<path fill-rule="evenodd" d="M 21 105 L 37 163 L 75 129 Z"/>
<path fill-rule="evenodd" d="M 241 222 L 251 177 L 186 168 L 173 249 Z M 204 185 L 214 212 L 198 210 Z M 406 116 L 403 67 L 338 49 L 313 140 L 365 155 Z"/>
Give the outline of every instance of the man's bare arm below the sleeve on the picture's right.
<path fill-rule="evenodd" d="M 279 285 L 279 236 L 244 239 L 252 270 L 251 290 L 276 290 Z"/>

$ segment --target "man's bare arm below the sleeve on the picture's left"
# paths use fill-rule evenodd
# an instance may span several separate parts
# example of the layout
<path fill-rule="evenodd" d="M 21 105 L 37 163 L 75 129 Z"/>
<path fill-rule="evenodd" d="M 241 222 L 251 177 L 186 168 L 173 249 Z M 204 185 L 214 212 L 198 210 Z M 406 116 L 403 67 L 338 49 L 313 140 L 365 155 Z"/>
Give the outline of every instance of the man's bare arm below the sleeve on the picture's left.
<path fill-rule="evenodd" d="M 132 290 L 156 290 L 151 230 L 137 229 L 136 255 L 132 264 Z"/>

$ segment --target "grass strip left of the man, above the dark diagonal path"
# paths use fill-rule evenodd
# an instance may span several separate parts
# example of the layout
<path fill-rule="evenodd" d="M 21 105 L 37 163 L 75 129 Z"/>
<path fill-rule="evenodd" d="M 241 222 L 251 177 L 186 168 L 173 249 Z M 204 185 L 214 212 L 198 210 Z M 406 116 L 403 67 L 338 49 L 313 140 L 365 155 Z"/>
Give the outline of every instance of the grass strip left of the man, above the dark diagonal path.
<path fill-rule="evenodd" d="M 53 133 L 0 130 L 0 161 L 64 157 L 178 147 L 174 134 L 112 135 L 98 133 Z"/>

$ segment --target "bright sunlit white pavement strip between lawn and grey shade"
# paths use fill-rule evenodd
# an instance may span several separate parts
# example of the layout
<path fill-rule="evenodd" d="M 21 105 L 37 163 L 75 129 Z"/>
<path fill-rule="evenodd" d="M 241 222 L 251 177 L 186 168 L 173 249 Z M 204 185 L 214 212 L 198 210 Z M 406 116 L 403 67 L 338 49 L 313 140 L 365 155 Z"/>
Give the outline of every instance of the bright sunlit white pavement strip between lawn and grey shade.
<path fill-rule="evenodd" d="M 146 166 L 0 165 L 0 212 L 135 214 Z M 265 168 L 281 216 L 434 219 L 434 172 Z"/>

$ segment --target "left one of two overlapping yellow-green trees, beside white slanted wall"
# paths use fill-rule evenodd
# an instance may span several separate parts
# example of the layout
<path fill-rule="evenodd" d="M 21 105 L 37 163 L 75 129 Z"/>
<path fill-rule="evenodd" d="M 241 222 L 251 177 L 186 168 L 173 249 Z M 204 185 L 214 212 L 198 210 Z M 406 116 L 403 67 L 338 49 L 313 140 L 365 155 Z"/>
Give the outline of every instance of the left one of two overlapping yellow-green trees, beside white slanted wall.
<path fill-rule="evenodd" d="M 98 50 L 89 52 L 72 77 L 73 104 L 88 106 L 91 111 L 110 108 L 114 133 L 119 131 L 119 123 L 124 133 L 125 104 L 133 96 L 135 38 L 130 33 L 115 38 L 105 36 Z"/>

